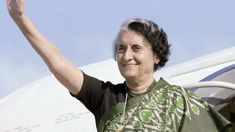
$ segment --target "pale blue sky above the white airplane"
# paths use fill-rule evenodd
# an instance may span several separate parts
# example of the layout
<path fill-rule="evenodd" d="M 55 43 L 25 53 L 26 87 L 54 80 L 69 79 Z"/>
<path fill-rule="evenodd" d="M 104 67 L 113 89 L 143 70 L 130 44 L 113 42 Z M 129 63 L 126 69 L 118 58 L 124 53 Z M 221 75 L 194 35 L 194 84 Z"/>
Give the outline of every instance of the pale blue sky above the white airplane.
<path fill-rule="evenodd" d="M 76 66 L 112 58 L 121 23 L 156 22 L 168 35 L 167 66 L 235 46 L 233 0 L 25 0 L 36 27 Z M 0 1 L 0 98 L 51 75 Z"/>

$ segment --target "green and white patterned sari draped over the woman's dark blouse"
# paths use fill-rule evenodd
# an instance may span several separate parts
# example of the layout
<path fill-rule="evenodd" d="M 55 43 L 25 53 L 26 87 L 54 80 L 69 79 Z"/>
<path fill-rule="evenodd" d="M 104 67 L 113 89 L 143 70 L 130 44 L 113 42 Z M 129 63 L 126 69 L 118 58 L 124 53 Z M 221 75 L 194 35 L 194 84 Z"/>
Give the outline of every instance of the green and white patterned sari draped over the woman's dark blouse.
<path fill-rule="evenodd" d="M 102 116 L 98 131 L 216 132 L 231 124 L 193 92 L 154 82 L 146 94 L 132 96 Z"/>

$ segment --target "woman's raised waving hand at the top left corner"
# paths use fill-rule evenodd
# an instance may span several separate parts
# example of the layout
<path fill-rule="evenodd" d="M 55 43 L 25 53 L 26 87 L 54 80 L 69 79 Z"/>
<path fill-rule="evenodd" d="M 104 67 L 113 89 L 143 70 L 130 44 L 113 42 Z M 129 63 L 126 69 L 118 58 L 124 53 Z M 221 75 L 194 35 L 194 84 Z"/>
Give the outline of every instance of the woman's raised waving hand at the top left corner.
<path fill-rule="evenodd" d="M 16 19 L 24 13 L 24 0 L 7 0 L 7 8 L 13 19 Z"/>

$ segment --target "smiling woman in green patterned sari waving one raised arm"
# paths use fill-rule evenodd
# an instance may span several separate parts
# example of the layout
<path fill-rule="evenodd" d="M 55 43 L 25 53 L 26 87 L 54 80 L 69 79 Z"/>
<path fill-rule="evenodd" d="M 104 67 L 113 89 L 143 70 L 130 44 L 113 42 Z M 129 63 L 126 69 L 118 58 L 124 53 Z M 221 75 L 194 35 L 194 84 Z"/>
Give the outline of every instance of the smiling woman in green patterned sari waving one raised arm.
<path fill-rule="evenodd" d="M 207 103 L 153 73 L 168 60 L 166 33 L 149 20 L 126 21 L 114 44 L 124 83 L 91 77 L 68 62 L 35 28 L 23 0 L 7 0 L 8 10 L 55 77 L 94 115 L 99 131 L 229 131 L 230 123 Z"/>

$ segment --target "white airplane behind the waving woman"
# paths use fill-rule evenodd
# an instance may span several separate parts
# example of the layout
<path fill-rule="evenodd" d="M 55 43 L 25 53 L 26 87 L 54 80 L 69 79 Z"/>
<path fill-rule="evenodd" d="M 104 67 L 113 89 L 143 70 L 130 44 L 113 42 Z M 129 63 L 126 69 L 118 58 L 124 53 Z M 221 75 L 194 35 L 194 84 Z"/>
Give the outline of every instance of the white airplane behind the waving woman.
<path fill-rule="evenodd" d="M 81 69 L 104 81 L 124 81 L 113 59 Z M 171 84 L 190 88 L 234 124 L 235 47 L 163 68 L 155 73 L 156 79 L 160 76 Z M 1 99 L 0 117 L 0 132 L 96 131 L 94 116 L 54 76 Z"/>

